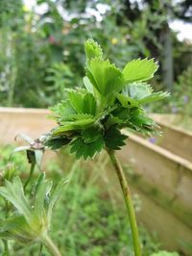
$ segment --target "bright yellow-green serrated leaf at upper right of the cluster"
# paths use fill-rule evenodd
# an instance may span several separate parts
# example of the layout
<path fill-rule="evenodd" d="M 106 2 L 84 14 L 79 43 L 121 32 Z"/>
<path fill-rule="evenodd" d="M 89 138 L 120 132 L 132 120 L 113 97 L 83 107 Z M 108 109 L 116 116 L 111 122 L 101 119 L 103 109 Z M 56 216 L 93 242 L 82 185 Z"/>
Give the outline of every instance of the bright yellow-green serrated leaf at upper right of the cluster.
<path fill-rule="evenodd" d="M 147 81 L 154 77 L 157 68 L 158 65 L 155 63 L 154 59 L 137 59 L 126 64 L 123 69 L 123 74 L 127 83 Z"/>

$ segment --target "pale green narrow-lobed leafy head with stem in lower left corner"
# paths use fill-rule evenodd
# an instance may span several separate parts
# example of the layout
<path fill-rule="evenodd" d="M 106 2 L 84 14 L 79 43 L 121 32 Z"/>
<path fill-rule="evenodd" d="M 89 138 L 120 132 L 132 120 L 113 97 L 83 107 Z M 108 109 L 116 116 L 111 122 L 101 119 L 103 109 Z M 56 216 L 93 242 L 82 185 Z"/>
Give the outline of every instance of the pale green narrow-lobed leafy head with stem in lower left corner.
<path fill-rule="evenodd" d="M 37 182 L 34 198 L 31 202 L 24 194 L 20 178 L 14 177 L 12 182 L 6 180 L 5 186 L 0 187 L 0 195 L 11 203 L 15 211 L 10 217 L 1 221 L 0 238 L 14 240 L 23 244 L 42 243 L 55 256 L 60 256 L 60 251 L 48 235 L 52 210 L 60 196 L 65 180 L 62 179 L 54 190 L 52 181 L 45 179 L 42 173 Z"/>

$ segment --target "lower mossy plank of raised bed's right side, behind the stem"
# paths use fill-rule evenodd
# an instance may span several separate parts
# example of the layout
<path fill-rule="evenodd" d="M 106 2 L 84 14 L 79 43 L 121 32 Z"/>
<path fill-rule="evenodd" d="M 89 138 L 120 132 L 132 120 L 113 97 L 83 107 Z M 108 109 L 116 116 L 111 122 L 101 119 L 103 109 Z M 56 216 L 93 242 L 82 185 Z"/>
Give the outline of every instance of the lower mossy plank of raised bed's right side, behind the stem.
<path fill-rule="evenodd" d="M 101 163 L 98 164 L 101 167 Z M 154 200 L 149 192 L 144 192 L 140 186 L 137 186 L 132 180 L 131 171 L 127 171 L 125 166 L 124 170 L 131 185 L 132 198 L 136 196 L 139 200 L 137 208 L 139 210 L 136 212 L 138 222 L 143 224 L 151 234 L 156 235 L 157 241 L 162 243 L 164 248 L 178 250 L 188 256 L 192 255 L 192 250 L 183 245 L 183 243 L 192 244 L 192 229 L 180 218 L 174 216 L 169 209 L 164 208 L 159 200 Z M 121 188 L 113 167 L 109 164 L 105 169 L 101 169 L 100 175 L 97 182 L 102 192 L 108 190 L 113 203 L 116 201 L 124 205 Z M 126 209 L 124 211 L 126 215 Z"/>

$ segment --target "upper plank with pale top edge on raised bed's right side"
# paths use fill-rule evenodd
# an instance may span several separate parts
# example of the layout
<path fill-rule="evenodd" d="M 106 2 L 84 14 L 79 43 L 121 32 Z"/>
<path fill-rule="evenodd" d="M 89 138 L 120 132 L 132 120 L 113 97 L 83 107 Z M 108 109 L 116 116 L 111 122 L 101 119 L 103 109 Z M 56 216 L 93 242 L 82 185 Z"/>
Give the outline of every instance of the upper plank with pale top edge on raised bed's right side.
<path fill-rule="evenodd" d="M 192 163 L 127 131 L 125 133 L 130 139 L 119 157 L 133 167 L 137 187 L 192 227 Z"/>

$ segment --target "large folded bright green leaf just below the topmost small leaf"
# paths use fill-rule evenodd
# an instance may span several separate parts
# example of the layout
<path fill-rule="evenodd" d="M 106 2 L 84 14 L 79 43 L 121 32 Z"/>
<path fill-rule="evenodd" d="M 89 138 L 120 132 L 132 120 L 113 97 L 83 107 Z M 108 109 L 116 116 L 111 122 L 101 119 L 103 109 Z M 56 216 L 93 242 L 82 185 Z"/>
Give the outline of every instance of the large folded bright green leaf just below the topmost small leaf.
<path fill-rule="evenodd" d="M 124 85 L 121 70 L 110 64 L 108 60 L 93 59 L 86 69 L 86 75 L 93 87 L 103 96 L 118 92 Z"/>

